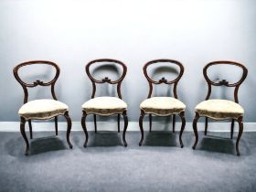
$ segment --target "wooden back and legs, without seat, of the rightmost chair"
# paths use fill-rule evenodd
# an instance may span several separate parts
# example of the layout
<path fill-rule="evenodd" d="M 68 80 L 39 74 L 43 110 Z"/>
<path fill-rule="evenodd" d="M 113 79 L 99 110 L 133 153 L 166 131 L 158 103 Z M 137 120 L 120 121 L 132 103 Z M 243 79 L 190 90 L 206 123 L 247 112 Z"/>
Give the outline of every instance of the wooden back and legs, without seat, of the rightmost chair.
<path fill-rule="evenodd" d="M 208 78 L 208 68 L 210 68 L 211 66 L 214 66 L 214 65 L 233 65 L 233 66 L 240 67 L 240 69 L 242 69 L 242 77 L 240 78 L 239 81 L 237 81 L 235 83 L 229 83 L 229 81 L 227 81 L 227 80 L 219 80 L 219 82 L 214 82 L 214 81 L 212 81 Z M 243 66 L 242 64 L 240 64 L 238 62 L 229 61 L 229 60 L 213 61 L 213 62 L 208 63 L 204 67 L 203 74 L 204 74 L 204 77 L 205 77 L 205 79 L 207 80 L 207 83 L 208 83 L 208 94 L 207 94 L 207 97 L 206 97 L 206 101 L 210 97 L 211 86 L 226 86 L 226 87 L 234 87 L 235 88 L 235 90 L 234 90 L 234 101 L 239 103 L 238 91 L 239 91 L 239 88 L 240 88 L 240 84 L 246 79 L 247 74 L 248 74 L 248 69 L 246 69 L 245 66 Z M 194 133 L 195 133 L 195 136 L 196 136 L 196 141 L 195 141 L 195 144 L 192 147 L 193 149 L 196 149 L 197 142 L 198 142 L 197 121 L 198 121 L 199 117 L 200 116 L 199 116 L 198 112 L 196 112 L 196 115 L 195 115 L 195 118 L 194 118 L 194 121 L 193 121 L 193 130 L 194 130 Z M 205 118 L 206 118 L 206 121 L 205 121 L 205 135 L 207 135 L 207 133 L 208 133 L 208 117 L 205 117 Z M 240 116 L 236 121 L 239 123 L 239 135 L 238 135 L 237 142 L 236 142 L 236 152 L 237 152 L 237 155 L 240 155 L 239 142 L 240 142 L 241 134 L 243 132 L 243 116 Z M 234 133 L 234 122 L 235 122 L 235 119 L 232 119 L 231 120 L 231 132 L 230 132 L 230 138 L 231 139 L 233 138 L 233 133 Z"/>

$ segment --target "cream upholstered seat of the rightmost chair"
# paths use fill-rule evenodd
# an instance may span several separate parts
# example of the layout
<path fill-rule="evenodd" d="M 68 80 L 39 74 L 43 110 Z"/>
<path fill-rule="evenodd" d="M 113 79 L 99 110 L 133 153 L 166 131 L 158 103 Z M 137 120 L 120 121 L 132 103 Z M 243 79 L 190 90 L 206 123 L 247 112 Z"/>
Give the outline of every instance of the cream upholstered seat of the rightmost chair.
<path fill-rule="evenodd" d="M 238 119 L 244 110 L 240 104 L 228 100 L 202 101 L 196 106 L 200 116 L 207 116 L 216 120 Z"/>

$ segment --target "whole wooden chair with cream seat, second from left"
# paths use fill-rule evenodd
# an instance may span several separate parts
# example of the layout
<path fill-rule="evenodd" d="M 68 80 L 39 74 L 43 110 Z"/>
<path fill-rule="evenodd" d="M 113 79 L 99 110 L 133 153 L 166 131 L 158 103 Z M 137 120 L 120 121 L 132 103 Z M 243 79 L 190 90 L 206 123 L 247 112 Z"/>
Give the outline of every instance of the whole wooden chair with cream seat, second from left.
<path fill-rule="evenodd" d="M 108 63 L 108 65 L 120 65 L 123 69 L 123 74 L 118 80 L 110 80 L 108 77 L 105 77 L 102 80 L 96 80 L 92 77 L 90 68 L 92 65 L 100 65 L 102 63 Z M 126 75 L 127 68 L 123 64 L 123 62 L 115 59 L 95 59 L 89 62 L 86 67 L 86 73 L 88 77 L 91 80 L 92 83 L 92 94 L 91 94 L 91 100 L 86 101 L 83 103 L 82 107 L 82 118 L 81 118 L 81 126 L 83 128 L 83 131 L 85 133 L 85 143 L 83 144 L 84 147 L 87 146 L 88 143 L 88 133 L 86 129 L 86 117 L 89 114 L 93 114 L 94 117 L 94 127 L 95 127 L 95 133 L 97 133 L 97 121 L 96 121 L 96 115 L 100 116 L 111 116 L 117 114 L 117 122 L 118 122 L 118 133 L 120 133 L 120 115 L 123 115 L 123 121 L 124 121 L 124 129 L 123 129 L 123 144 L 124 146 L 127 146 L 126 140 L 125 140 L 125 133 L 128 126 L 128 118 L 127 118 L 127 104 L 122 100 L 122 94 L 121 94 L 121 84 L 122 81 Z M 110 83 L 110 84 L 117 84 L 117 94 L 118 97 L 95 97 L 96 92 L 96 83 Z"/>

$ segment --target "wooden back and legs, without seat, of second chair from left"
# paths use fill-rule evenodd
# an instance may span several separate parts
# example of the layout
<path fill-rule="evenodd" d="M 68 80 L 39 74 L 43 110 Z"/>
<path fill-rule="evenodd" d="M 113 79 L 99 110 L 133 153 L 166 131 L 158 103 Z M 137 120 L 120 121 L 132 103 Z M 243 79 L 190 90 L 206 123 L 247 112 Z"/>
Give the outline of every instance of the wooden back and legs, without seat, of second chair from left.
<path fill-rule="evenodd" d="M 91 71 L 90 71 L 90 68 L 92 65 L 97 65 L 97 64 L 100 64 L 102 62 L 110 62 L 112 64 L 118 64 L 118 65 L 121 65 L 122 68 L 123 68 L 123 74 L 122 76 L 118 79 L 118 80 L 111 80 L 109 79 L 108 77 L 105 77 L 104 79 L 102 80 L 96 80 L 92 77 L 91 75 Z M 102 84 L 102 83 L 109 83 L 109 84 L 117 84 L 117 94 L 118 94 L 118 97 L 120 99 L 122 99 L 122 94 L 121 94 L 121 84 L 123 82 L 123 79 L 126 75 L 126 72 L 127 72 L 127 67 L 126 65 L 120 61 L 120 60 L 116 60 L 116 59 L 95 59 L 95 60 L 91 60 L 86 66 L 85 66 L 85 71 L 88 75 L 88 77 L 90 78 L 91 80 L 91 83 L 92 83 L 92 93 L 91 93 L 91 99 L 93 99 L 95 97 L 95 93 L 96 93 L 96 83 L 99 83 L 99 84 Z M 121 113 L 117 113 L 117 122 L 118 122 L 118 133 L 120 133 L 120 114 Z M 87 143 L 88 143 L 88 133 L 87 133 L 87 128 L 86 128 L 86 117 L 88 116 L 89 114 L 87 114 L 87 112 L 83 111 L 82 112 L 82 118 L 81 118 L 81 125 L 82 125 L 82 128 L 83 128 L 83 131 L 85 133 L 85 142 L 83 144 L 84 147 L 87 146 Z M 115 114 L 113 114 L 115 115 Z M 125 133 L 126 133 L 126 130 L 127 130 L 127 126 L 128 126 L 128 118 L 127 118 L 127 111 L 123 111 L 122 113 L 123 115 L 123 121 L 124 121 L 124 128 L 123 128 L 123 144 L 124 146 L 127 146 L 127 142 L 125 140 Z M 96 114 L 93 114 L 93 119 L 94 119 L 94 128 L 95 128 L 95 133 L 97 133 L 97 119 L 96 119 Z"/>

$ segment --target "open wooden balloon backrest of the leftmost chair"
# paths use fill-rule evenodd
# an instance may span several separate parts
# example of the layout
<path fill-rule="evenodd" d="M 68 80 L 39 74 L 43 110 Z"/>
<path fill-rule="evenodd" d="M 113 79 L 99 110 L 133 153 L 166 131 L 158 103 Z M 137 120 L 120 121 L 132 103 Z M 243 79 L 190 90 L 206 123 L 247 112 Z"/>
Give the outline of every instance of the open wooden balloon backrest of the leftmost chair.
<path fill-rule="evenodd" d="M 27 83 L 23 80 L 21 80 L 19 74 L 18 74 L 18 70 L 23 68 L 23 67 L 26 67 L 28 65 L 48 65 L 48 66 L 52 66 L 54 69 L 56 69 L 56 74 L 54 76 L 54 78 L 52 80 L 49 80 L 48 82 L 43 82 L 42 80 L 35 80 L 33 83 Z M 51 62 L 51 61 L 47 61 L 47 60 L 32 60 L 32 61 L 27 61 L 27 62 L 23 62 L 23 63 L 20 63 L 19 65 L 17 65 L 14 69 L 13 69 L 13 72 L 14 72 L 14 76 L 16 78 L 16 80 L 21 84 L 22 88 L 23 88 L 23 91 L 24 91 L 24 103 L 27 102 L 27 98 L 28 98 L 28 91 L 27 91 L 27 88 L 34 88 L 34 87 L 37 87 L 38 85 L 39 86 L 51 86 L 51 95 L 53 97 L 54 100 L 57 100 L 57 97 L 55 95 L 55 91 L 54 91 L 54 86 L 55 86 L 55 83 L 56 83 L 56 80 L 58 80 L 59 78 L 59 72 L 60 72 L 60 69 L 59 69 L 59 66 L 54 63 L 54 62 Z"/>

